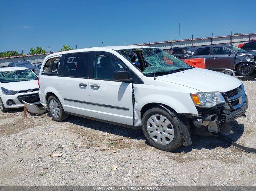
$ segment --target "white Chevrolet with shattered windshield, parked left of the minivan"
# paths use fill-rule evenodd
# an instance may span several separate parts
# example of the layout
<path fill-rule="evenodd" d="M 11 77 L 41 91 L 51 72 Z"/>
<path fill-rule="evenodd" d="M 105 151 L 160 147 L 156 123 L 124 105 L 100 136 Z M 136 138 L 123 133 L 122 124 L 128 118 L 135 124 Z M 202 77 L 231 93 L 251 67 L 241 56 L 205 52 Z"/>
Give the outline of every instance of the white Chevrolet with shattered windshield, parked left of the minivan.
<path fill-rule="evenodd" d="M 0 68 L 0 109 L 23 107 L 27 103 L 40 103 L 37 76 L 28 68 Z"/>

